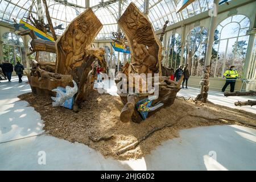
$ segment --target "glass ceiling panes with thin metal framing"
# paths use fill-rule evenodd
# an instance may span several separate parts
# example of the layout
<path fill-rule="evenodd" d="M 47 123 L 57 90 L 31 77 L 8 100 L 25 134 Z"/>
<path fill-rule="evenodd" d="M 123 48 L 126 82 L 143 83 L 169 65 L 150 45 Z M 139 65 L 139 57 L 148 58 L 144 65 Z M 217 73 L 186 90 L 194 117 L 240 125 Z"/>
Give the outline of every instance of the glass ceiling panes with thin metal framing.
<path fill-rule="evenodd" d="M 0 0 L 0 21 L 14 23 L 13 18 L 17 22 L 20 19 L 26 21 L 26 17 L 31 13 L 38 17 L 38 1 L 40 0 Z M 168 25 L 174 24 L 207 11 L 213 6 L 213 0 L 196 0 L 179 14 L 176 14 L 176 5 L 180 0 L 148 1 L 148 19 L 154 25 L 155 30 L 161 29 L 166 20 L 170 22 Z M 67 27 L 72 19 L 85 10 L 85 2 L 86 0 L 47 0 L 53 26 L 63 24 L 63 28 Z M 121 15 L 130 2 L 134 2 L 142 12 L 144 10 L 144 0 L 122 0 L 121 2 Z M 89 0 L 90 7 L 104 24 L 96 39 L 109 39 L 112 38 L 112 32 L 117 32 L 118 3 L 119 0 Z M 47 22 L 45 15 L 44 19 Z M 56 30 L 56 34 L 61 35 L 63 31 Z"/>

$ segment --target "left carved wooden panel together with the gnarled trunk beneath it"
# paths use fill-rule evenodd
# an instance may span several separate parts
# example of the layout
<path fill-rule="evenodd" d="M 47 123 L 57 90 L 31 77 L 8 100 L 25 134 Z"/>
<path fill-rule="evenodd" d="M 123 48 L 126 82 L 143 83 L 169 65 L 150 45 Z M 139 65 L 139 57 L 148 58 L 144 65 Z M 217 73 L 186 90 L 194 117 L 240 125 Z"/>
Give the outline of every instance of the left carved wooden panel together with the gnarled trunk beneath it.
<path fill-rule="evenodd" d="M 56 40 L 56 72 L 72 75 L 79 86 L 73 105 L 75 111 L 93 88 L 93 62 L 96 59 L 104 61 L 104 49 L 90 47 L 101 28 L 102 24 L 92 9 L 87 9 L 73 19 Z"/>

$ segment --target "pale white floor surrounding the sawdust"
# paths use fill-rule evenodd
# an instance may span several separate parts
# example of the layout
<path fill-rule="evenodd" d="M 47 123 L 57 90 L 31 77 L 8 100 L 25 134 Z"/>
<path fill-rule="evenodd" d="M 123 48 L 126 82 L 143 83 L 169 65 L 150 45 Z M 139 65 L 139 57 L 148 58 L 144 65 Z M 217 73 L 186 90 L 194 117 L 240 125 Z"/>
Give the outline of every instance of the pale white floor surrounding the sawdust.
<path fill-rule="evenodd" d="M 31 92 L 26 80 L 18 84 L 18 78 L 13 77 L 12 82 L 0 82 L 1 170 L 256 170 L 256 130 L 237 125 L 181 130 L 180 138 L 163 142 L 142 159 L 129 161 L 105 159 L 84 144 L 49 135 L 19 139 L 44 132 L 39 113 L 17 98 Z M 96 87 L 103 84 L 96 83 Z M 106 90 L 115 95 L 116 88 L 110 85 Z M 198 92 L 194 88 L 182 89 L 179 95 L 195 97 Z M 230 107 L 235 107 L 237 100 L 248 99 L 253 100 L 209 92 L 210 101 Z M 256 113 L 256 107 L 239 108 Z M 38 163 L 42 151 L 46 164 Z"/>

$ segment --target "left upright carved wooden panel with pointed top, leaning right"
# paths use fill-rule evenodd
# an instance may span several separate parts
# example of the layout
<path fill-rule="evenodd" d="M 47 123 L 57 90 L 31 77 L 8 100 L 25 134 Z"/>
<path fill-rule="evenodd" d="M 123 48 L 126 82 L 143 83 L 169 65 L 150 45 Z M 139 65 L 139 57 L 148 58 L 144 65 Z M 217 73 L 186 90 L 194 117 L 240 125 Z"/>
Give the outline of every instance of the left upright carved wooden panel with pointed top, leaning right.
<path fill-rule="evenodd" d="M 56 40 L 56 72 L 69 74 L 72 69 L 79 67 L 101 28 L 102 24 L 92 9 L 85 10 L 73 19 Z"/>

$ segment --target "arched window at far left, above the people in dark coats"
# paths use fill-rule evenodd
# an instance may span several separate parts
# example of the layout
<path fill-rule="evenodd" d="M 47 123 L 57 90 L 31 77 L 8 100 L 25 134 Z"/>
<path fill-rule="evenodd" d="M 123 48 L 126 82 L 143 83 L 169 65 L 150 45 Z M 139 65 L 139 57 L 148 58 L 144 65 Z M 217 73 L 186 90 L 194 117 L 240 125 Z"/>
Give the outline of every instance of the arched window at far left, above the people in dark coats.
<path fill-rule="evenodd" d="M 22 38 L 13 32 L 5 32 L 2 40 L 3 59 L 14 65 L 19 61 L 26 68 L 26 53 Z"/>

